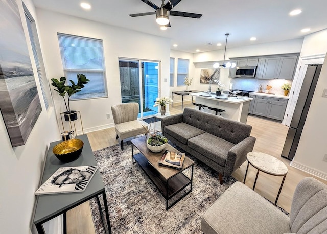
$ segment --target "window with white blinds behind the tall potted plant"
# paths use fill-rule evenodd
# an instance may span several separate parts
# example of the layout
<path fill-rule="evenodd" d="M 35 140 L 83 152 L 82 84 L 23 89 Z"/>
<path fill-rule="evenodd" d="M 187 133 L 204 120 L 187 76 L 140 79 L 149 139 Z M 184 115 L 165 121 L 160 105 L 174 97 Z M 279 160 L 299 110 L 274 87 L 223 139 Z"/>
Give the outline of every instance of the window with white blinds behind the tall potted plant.
<path fill-rule="evenodd" d="M 90 80 L 71 99 L 108 97 L 102 40 L 58 33 L 58 41 L 67 82 L 77 83 L 78 73 Z"/>

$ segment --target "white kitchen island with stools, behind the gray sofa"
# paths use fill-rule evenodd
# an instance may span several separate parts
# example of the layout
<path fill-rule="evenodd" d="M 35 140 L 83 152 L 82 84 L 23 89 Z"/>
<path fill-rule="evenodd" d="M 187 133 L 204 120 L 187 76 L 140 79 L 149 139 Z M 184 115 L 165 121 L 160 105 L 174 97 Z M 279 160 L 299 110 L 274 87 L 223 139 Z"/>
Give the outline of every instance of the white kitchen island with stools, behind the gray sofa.
<path fill-rule="evenodd" d="M 194 102 L 207 107 L 225 110 L 224 112 L 221 112 L 221 116 L 242 123 L 246 123 L 247 121 L 250 102 L 253 100 L 252 98 L 245 96 L 227 97 L 227 95 L 224 94 L 216 96 L 213 92 L 210 94 L 207 92 L 198 92 L 190 95 L 196 98 Z M 201 108 L 201 110 L 215 114 L 215 111 L 209 110 L 207 107 Z M 194 108 L 198 109 L 199 107 L 195 106 Z"/>

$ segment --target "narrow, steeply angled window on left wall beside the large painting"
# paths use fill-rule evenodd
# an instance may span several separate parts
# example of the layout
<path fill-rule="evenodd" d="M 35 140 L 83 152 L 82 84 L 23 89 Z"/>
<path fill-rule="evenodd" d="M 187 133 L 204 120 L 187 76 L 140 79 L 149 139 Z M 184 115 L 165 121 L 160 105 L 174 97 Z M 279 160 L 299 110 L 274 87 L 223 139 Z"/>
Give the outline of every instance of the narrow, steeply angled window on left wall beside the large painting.
<path fill-rule="evenodd" d="M 34 61 L 35 61 L 35 65 L 36 65 L 37 76 L 40 81 L 42 97 L 44 100 L 45 108 L 48 110 L 49 100 L 51 100 L 50 88 L 49 88 L 48 81 L 46 80 L 44 63 L 43 63 L 40 43 L 39 43 L 38 36 L 37 36 L 35 20 L 29 14 L 27 9 L 24 9 L 24 10 L 25 10 L 25 18 L 26 18 L 26 22 L 27 22 L 27 28 L 29 31 L 29 37 L 30 37 L 31 45 L 32 45 Z"/>

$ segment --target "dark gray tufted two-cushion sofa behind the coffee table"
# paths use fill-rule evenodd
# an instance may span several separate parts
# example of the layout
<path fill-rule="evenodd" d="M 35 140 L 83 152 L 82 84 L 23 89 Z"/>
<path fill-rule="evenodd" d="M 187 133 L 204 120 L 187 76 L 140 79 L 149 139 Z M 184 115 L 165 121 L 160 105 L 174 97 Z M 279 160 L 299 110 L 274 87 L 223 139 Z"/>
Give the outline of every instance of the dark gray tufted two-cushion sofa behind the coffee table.
<path fill-rule="evenodd" d="M 162 134 L 223 176 L 230 176 L 254 147 L 252 126 L 192 108 L 161 119 Z"/>

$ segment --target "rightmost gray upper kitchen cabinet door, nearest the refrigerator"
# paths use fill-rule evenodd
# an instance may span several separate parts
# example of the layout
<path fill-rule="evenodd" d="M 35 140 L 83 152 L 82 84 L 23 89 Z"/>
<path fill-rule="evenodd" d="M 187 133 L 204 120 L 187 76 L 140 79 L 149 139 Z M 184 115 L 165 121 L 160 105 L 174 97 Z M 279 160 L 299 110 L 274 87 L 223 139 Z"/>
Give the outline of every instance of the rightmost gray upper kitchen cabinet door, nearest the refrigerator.
<path fill-rule="evenodd" d="M 278 65 L 277 79 L 292 80 L 295 72 L 297 56 L 281 57 Z"/>

